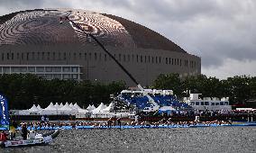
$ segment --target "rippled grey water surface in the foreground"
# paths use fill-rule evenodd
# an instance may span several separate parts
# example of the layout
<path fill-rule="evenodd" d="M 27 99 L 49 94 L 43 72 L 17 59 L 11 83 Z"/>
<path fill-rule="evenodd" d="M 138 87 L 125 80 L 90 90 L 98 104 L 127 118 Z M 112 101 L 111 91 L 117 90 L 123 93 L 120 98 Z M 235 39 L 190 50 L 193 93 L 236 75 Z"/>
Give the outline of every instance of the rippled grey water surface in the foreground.
<path fill-rule="evenodd" d="M 256 152 L 255 127 L 61 130 L 48 146 L 0 152 Z"/>

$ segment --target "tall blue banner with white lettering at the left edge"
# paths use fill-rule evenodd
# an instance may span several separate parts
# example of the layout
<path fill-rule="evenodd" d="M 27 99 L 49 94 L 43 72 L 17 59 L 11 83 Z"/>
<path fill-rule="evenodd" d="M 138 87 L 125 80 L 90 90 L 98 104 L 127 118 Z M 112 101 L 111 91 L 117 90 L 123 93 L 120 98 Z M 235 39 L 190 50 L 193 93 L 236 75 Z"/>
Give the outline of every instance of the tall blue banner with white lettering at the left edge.
<path fill-rule="evenodd" d="M 0 94 L 0 128 L 9 129 L 8 102 L 2 94 Z"/>

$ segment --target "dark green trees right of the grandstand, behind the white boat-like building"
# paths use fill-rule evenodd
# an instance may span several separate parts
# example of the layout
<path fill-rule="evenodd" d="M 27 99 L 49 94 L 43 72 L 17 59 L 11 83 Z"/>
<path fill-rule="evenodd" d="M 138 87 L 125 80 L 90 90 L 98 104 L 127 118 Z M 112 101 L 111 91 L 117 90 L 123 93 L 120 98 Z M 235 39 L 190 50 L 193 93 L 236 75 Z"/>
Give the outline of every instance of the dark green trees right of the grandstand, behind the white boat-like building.
<path fill-rule="evenodd" d="M 226 79 L 206 75 L 180 78 L 178 74 L 157 77 L 154 88 L 172 89 L 179 98 L 191 94 L 205 97 L 229 97 L 230 103 L 244 103 L 256 97 L 256 76 L 233 76 Z"/>

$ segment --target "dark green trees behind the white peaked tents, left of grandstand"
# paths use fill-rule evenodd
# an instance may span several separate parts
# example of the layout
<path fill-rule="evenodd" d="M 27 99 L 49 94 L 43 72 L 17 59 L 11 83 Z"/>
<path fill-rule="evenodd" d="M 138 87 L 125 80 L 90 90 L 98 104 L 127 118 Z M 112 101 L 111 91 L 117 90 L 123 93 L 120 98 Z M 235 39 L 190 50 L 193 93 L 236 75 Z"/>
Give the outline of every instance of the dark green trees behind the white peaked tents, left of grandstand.
<path fill-rule="evenodd" d="M 108 103 L 110 94 L 120 93 L 126 87 L 123 81 L 103 84 L 92 81 L 46 80 L 32 74 L 0 76 L 0 93 L 5 94 L 10 109 L 28 109 L 32 104 L 42 108 L 53 103 L 89 104 Z"/>

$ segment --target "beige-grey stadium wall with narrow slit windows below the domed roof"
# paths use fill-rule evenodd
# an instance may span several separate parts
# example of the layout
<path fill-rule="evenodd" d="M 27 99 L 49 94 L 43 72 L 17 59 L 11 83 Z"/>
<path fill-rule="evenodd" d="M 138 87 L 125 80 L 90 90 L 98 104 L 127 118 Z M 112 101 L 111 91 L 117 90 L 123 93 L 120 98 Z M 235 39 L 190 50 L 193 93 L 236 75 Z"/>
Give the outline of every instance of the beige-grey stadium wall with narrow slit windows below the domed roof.
<path fill-rule="evenodd" d="M 106 46 L 123 67 L 142 85 L 151 85 L 160 74 L 181 76 L 201 73 L 201 58 L 183 52 L 160 49 L 126 49 Z M 138 60 L 137 60 L 138 56 Z M 106 55 L 90 43 L 61 45 L 2 45 L 0 65 L 80 65 L 82 79 L 110 82 L 133 81 Z"/>

